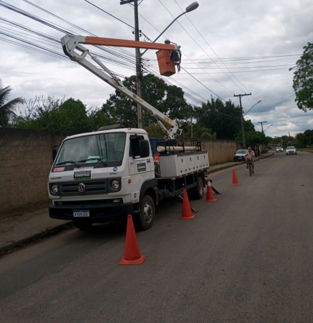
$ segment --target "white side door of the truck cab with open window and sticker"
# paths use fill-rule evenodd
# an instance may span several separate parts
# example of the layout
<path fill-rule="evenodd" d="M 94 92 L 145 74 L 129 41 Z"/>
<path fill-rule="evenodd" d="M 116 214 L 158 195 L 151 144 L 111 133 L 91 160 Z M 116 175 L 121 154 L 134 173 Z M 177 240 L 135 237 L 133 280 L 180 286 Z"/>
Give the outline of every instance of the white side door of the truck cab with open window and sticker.
<path fill-rule="evenodd" d="M 154 178 L 154 163 L 150 154 L 149 157 L 141 158 L 139 151 L 139 140 L 143 136 L 131 135 L 129 138 L 129 175 L 134 191 L 131 193 L 131 201 L 139 201 L 141 183 L 145 180 Z"/>

